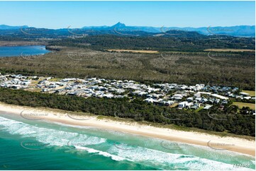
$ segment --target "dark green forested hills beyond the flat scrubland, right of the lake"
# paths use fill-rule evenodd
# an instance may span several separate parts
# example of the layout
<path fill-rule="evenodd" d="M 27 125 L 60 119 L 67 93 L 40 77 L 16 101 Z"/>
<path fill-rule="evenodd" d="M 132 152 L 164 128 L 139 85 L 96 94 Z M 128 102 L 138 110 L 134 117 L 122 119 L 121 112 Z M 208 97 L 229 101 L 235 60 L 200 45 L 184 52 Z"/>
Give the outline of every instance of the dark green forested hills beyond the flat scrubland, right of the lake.
<path fill-rule="evenodd" d="M 63 39 L 50 42 L 50 45 L 83 47 L 96 50 L 106 49 L 144 49 L 178 52 L 204 52 L 204 49 L 255 49 L 255 38 L 230 36 L 180 37 L 164 35 L 161 37 L 136 37 L 120 35 L 94 35 L 77 39 Z"/>

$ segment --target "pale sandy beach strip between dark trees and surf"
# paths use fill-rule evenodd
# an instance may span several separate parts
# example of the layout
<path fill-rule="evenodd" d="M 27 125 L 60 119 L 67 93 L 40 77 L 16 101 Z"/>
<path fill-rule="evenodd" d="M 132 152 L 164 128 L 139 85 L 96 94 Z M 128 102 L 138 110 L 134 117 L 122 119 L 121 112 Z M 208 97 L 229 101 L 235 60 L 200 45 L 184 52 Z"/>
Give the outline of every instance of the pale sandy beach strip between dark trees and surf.
<path fill-rule="evenodd" d="M 216 136 L 199 133 L 195 131 L 179 131 L 174 129 L 160 128 L 156 126 L 143 125 L 138 122 L 120 122 L 111 119 L 97 119 L 98 116 L 74 116 L 68 111 L 56 110 L 43 107 L 27 107 L 19 105 L 9 105 L 0 102 L 0 112 L 15 114 L 30 120 L 43 119 L 45 121 L 57 122 L 73 126 L 93 126 L 99 129 L 123 131 L 129 134 L 160 138 L 167 141 L 189 143 L 192 145 L 208 146 L 216 151 L 233 151 L 246 155 L 255 156 L 255 141 L 231 136 Z M 36 117 L 28 115 L 35 114 Z M 45 114 L 45 116 L 43 116 Z M 1 114 L 0 114 L 1 116 Z M 43 117 L 42 117 L 43 116 Z"/>

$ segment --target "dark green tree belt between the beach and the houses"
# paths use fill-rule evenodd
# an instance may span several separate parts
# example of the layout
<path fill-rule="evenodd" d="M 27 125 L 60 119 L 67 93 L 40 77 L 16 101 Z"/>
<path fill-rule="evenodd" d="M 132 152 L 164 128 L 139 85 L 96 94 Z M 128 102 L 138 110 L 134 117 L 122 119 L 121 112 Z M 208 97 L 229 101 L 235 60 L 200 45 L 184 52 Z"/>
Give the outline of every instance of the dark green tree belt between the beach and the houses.
<path fill-rule="evenodd" d="M 96 115 L 130 118 L 162 124 L 194 127 L 209 131 L 226 131 L 232 134 L 255 136 L 255 116 L 237 113 L 238 107 L 230 105 L 225 111 L 177 110 L 126 99 L 81 98 L 77 96 L 35 93 L 25 90 L 0 88 L 0 101 L 13 105 L 51 107 L 74 112 L 89 112 Z"/>

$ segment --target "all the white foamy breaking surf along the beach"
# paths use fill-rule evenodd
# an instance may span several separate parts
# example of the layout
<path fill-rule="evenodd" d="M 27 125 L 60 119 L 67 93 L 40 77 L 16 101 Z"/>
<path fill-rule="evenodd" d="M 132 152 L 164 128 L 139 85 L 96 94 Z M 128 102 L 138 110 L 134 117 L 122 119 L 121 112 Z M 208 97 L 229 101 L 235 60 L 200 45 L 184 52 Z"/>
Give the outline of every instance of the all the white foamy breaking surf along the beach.
<path fill-rule="evenodd" d="M 133 150 L 124 150 L 111 146 L 107 151 L 99 151 L 94 148 L 84 147 L 87 145 L 96 145 L 107 143 L 106 138 L 96 136 L 87 136 L 72 131 L 61 131 L 56 129 L 46 129 L 42 127 L 32 126 L 23 122 L 0 117 L 0 126 L 4 126 L 4 130 L 10 134 L 19 134 L 23 137 L 35 137 L 41 143 L 49 143 L 51 146 L 74 146 L 77 150 L 87 151 L 109 157 L 112 160 L 130 160 L 135 163 L 144 163 L 145 165 L 153 165 L 163 169 L 184 169 L 184 170 L 250 170 L 245 167 L 233 167 L 231 164 L 221 163 L 215 160 L 200 158 L 194 155 L 181 155 L 157 151 L 144 147 L 129 147 L 124 145 L 121 147 L 133 148 Z M 82 146 L 79 146 L 82 145 Z M 250 160 L 248 160 L 250 162 Z"/>

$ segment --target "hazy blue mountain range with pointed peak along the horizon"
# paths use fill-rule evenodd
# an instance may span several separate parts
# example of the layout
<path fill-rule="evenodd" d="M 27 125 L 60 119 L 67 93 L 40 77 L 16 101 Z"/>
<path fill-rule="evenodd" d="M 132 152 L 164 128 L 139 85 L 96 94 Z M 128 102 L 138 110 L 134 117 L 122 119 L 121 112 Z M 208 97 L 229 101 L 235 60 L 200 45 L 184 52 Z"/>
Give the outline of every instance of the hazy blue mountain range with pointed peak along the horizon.
<path fill-rule="evenodd" d="M 21 30 L 28 29 L 28 25 L 23 26 L 9 26 L 0 25 L 0 33 L 4 30 Z M 36 30 L 34 28 L 33 30 Z M 255 37 L 255 25 L 237 25 L 230 27 L 202 27 L 202 28 L 179 28 L 179 27 L 149 27 L 149 26 L 126 26 L 123 23 L 116 23 L 112 26 L 86 26 L 83 28 L 62 28 L 62 29 L 42 29 L 45 33 L 55 33 L 60 35 L 66 33 L 74 33 L 74 35 L 81 35 L 85 33 L 87 35 L 99 35 L 99 34 L 119 34 L 119 35 L 152 35 L 152 36 L 177 36 L 180 35 L 196 35 L 199 33 L 201 35 L 230 35 L 235 37 Z M 31 31 L 31 29 L 30 29 Z M 25 32 L 25 31 L 23 31 Z M 39 30 L 38 30 L 39 32 Z M 38 33 L 37 32 L 37 33 Z M 194 33 L 196 32 L 196 33 Z M 76 34 L 77 33 L 77 34 Z"/>

